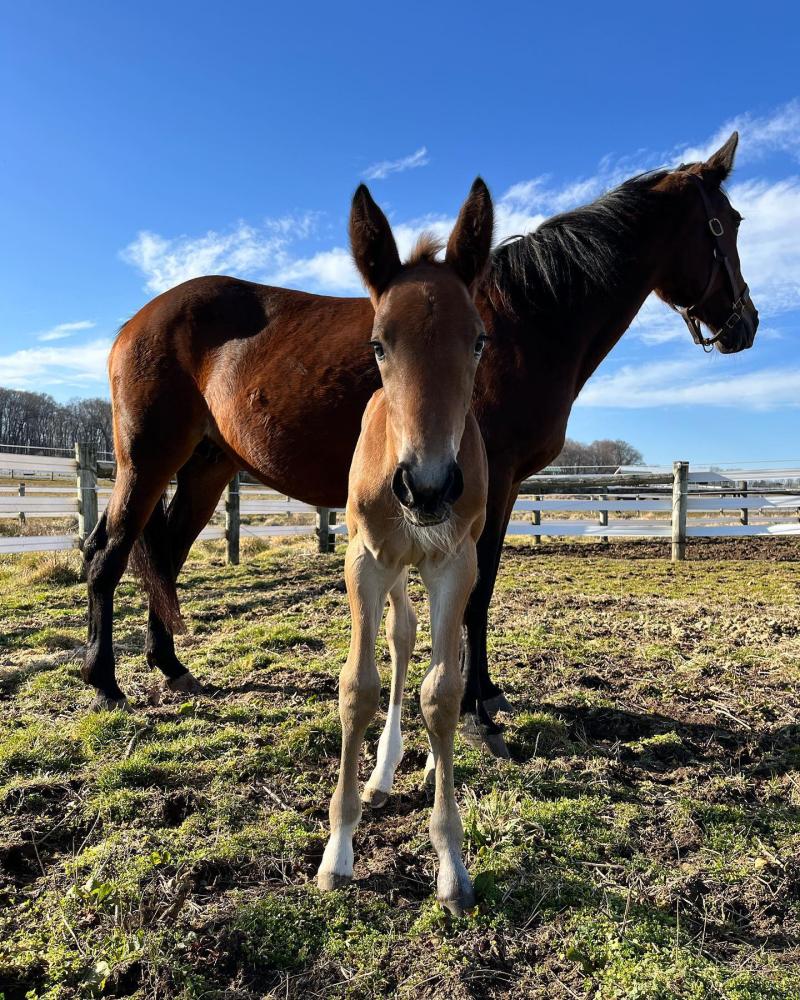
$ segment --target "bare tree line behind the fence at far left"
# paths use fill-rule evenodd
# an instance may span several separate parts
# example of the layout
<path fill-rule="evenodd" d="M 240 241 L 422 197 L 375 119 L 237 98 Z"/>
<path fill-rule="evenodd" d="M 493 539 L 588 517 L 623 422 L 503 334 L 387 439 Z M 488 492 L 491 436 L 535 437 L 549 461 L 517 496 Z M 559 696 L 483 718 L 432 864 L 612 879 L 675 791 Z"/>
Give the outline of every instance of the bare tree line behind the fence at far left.
<path fill-rule="evenodd" d="M 71 399 L 57 403 L 43 392 L 0 388 L 0 446 L 72 451 L 75 442 L 114 450 L 111 403 L 107 399 Z"/>

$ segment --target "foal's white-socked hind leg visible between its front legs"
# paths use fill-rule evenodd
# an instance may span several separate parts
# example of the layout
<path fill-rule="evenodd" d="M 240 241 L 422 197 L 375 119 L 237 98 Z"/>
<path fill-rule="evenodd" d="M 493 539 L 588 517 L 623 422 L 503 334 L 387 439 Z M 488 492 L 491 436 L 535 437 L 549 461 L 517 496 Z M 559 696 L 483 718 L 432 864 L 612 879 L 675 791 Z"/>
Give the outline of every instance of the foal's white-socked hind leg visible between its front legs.
<path fill-rule="evenodd" d="M 408 598 L 408 571 L 404 571 L 389 591 L 389 614 L 386 618 L 386 638 L 392 658 L 392 688 L 389 713 L 378 741 L 375 770 L 364 788 L 362 799 L 373 809 L 385 805 L 394 782 L 394 773 L 403 759 L 403 736 L 400 716 L 408 661 L 417 638 L 417 616 Z"/>

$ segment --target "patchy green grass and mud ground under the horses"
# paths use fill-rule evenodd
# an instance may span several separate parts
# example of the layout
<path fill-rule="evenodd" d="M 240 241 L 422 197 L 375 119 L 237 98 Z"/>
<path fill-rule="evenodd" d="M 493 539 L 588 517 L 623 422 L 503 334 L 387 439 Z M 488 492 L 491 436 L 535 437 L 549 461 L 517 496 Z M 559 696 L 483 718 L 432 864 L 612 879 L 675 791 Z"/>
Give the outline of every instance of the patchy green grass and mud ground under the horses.
<path fill-rule="evenodd" d="M 458 741 L 479 898 L 462 920 L 433 898 L 418 583 L 397 795 L 364 817 L 355 884 L 322 895 L 341 548 L 193 551 L 190 700 L 147 668 L 126 579 L 132 714 L 87 713 L 72 556 L 0 561 L 0 994 L 800 997 L 800 549 L 771 546 L 679 566 L 627 543 L 508 547 L 490 645 L 514 759 Z M 379 660 L 388 682 L 383 643 Z"/>

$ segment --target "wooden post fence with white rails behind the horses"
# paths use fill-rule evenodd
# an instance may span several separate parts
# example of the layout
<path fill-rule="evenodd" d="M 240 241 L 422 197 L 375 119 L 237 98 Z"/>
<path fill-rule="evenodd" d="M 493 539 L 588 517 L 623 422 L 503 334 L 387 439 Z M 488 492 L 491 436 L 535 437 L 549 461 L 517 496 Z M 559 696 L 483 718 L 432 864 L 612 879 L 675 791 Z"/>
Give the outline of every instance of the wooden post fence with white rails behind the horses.
<path fill-rule="evenodd" d="M 0 453 L 0 478 L 22 480 L 16 486 L 0 485 L 0 518 L 18 518 L 23 532 L 28 518 L 78 521 L 77 533 L 0 535 L 0 554 L 80 547 L 108 503 L 111 486 L 102 480 L 113 473 L 113 464 L 98 461 L 89 445 L 76 445 L 74 458 Z M 42 478 L 51 482 L 34 486 L 24 481 Z M 70 478 L 74 487 L 55 485 Z M 680 560 L 691 538 L 800 535 L 800 487 L 788 485 L 792 479 L 800 479 L 800 468 L 690 471 L 687 462 L 675 462 L 671 470 L 533 476 L 522 485 L 508 534 L 530 535 L 534 543 L 546 536 L 669 538 L 672 558 Z M 748 482 L 757 486 L 749 489 Z M 337 524 L 337 510 L 244 484 L 239 475 L 217 511 L 224 515 L 224 525 L 210 523 L 200 539 L 225 539 L 231 563 L 239 561 L 243 536 L 315 535 L 320 551 L 329 552 L 346 530 Z M 552 520 L 555 512 L 568 517 Z M 314 522 L 250 523 L 254 517 L 274 515 L 313 515 Z M 609 515 L 617 516 L 612 520 Z"/>

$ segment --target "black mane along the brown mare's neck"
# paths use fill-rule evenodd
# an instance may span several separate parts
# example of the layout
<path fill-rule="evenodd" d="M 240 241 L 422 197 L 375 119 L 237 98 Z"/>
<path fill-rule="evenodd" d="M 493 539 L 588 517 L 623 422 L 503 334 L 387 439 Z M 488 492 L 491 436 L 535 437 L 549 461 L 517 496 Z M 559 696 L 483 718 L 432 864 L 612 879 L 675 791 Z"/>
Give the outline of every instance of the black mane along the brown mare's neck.
<path fill-rule="evenodd" d="M 485 284 L 495 308 L 514 311 L 525 301 L 538 311 L 576 294 L 613 292 L 635 252 L 630 237 L 653 204 L 653 185 L 668 173 L 632 177 L 590 205 L 504 240 L 492 254 Z"/>

